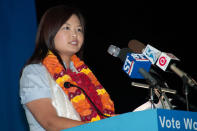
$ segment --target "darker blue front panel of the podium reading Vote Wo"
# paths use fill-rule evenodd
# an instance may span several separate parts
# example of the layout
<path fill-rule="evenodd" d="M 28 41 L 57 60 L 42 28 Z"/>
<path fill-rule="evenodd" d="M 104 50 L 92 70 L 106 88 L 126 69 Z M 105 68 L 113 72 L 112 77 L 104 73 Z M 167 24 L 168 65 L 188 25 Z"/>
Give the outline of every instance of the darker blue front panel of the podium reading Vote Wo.
<path fill-rule="evenodd" d="M 157 110 L 159 131 L 197 131 L 197 112 Z"/>

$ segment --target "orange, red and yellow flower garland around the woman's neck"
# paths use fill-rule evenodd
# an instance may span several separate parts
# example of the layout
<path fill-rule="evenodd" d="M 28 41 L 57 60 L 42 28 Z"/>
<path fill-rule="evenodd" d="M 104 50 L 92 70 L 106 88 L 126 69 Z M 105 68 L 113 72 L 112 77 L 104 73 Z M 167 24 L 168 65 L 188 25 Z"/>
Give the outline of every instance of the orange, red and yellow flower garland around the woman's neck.
<path fill-rule="evenodd" d="M 65 88 L 65 82 L 70 82 L 85 90 L 93 103 L 104 115 L 111 116 L 114 114 L 113 101 L 92 71 L 76 55 L 73 55 L 71 60 L 78 73 L 72 72 L 70 69 L 65 70 L 51 51 L 49 51 L 47 57 L 43 60 L 43 65 L 47 68 L 56 83 L 68 95 L 69 100 L 79 113 L 81 120 L 93 122 L 101 120 L 104 117 L 97 113 L 96 109 L 80 89 L 76 87 Z"/>

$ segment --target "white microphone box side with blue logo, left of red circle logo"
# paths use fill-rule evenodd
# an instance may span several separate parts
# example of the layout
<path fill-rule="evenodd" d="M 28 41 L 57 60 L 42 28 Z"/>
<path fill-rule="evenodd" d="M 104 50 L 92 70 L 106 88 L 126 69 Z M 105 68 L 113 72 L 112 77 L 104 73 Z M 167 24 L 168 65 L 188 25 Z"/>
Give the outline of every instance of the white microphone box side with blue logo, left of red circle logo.
<path fill-rule="evenodd" d="M 152 62 L 152 64 L 155 64 L 161 51 L 148 44 L 144 49 L 143 54 Z"/>

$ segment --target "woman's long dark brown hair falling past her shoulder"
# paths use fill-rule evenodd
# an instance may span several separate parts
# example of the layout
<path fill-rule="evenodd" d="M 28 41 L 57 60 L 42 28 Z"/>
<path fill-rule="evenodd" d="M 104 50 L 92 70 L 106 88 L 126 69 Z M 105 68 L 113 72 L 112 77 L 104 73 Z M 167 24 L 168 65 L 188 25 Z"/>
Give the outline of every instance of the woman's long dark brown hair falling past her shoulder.
<path fill-rule="evenodd" d="M 82 25 L 83 32 L 85 32 L 84 17 L 77 8 L 67 7 L 65 5 L 58 5 L 48 9 L 40 20 L 36 36 L 36 47 L 33 55 L 27 61 L 26 65 L 37 64 L 43 61 L 47 56 L 49 50 L 51 50 L 58 58 L 59 62 L 63 65 L 63 61 L 58 51 L 55 49 L 54 37 L 60 27 L 75 14 Z M 83 44 L 84 45 L 84 44 Z M 82 46 L 83 48 L 83 46 Z M 77 56 L 82 59 L 82 48 L 77 53 Z M 64 65 L 63 65 L 64 66 Z"/>

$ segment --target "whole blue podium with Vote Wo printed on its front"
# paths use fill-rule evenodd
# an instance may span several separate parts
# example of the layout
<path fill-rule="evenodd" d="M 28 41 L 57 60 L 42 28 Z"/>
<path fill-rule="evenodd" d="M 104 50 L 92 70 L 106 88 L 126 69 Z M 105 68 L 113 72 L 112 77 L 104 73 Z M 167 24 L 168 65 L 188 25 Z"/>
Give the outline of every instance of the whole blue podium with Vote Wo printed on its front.
<path fill-rule="evenodd" d="M 124 113 L 62 131 L 197 131 L 197 112 L 149 109 Z"/>

